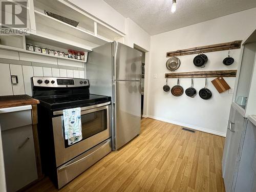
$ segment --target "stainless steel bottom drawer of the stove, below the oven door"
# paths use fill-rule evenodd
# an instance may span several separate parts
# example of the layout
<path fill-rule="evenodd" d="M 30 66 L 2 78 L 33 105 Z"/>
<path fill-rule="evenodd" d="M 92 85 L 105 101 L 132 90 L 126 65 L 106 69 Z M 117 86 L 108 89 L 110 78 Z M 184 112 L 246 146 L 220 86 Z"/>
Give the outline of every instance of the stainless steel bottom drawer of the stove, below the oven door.
<path fill-rule="evenodd" d="M 57 168 L 58 188 L 84 172 L 94 163 L 111 152 L 111 138 L 96 145 L 91 150 Z"/>

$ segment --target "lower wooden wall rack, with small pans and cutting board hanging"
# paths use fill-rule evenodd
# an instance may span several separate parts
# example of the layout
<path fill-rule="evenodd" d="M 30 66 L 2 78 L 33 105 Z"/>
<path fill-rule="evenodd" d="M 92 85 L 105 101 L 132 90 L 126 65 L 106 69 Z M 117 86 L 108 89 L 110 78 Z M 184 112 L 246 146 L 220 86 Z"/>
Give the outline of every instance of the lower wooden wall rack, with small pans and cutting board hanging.
<path fill-rule="evenodd" d="M 202 77 L 236 77 L 237 70 L 194 71 L 182 73 L 165 73 L 165 78 L 202 78 Z"/>

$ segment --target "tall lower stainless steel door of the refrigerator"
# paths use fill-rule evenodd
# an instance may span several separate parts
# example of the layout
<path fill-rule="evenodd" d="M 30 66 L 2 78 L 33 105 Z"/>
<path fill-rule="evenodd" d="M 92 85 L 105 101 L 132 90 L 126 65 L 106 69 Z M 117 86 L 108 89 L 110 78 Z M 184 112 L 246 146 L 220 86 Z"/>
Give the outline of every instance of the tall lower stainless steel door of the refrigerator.
<path fill-rule="evenodd" d="M 115 81 L 114 150 L 140 133 L 140 81 Z"/>

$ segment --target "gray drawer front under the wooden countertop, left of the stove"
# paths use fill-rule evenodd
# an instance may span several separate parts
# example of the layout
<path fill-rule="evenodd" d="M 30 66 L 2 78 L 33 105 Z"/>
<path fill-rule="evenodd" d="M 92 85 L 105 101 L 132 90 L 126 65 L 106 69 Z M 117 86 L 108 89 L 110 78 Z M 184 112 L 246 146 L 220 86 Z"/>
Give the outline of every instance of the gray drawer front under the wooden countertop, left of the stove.
<path fill-rule="evenodd" d="M 0 123 L 2 131 L 30 125 L 32 124 L 31 110 L 2 113 Z"/>

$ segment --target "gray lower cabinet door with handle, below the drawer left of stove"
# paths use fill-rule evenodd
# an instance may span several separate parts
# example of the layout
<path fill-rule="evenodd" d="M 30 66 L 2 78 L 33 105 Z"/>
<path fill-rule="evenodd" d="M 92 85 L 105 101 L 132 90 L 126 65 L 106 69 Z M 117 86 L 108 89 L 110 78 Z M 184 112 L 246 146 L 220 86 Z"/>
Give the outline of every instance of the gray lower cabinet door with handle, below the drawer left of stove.
<path fill-rule="evenodd" d="M 36 180 L 32 126 L 2 131 L 2 142 L 8 191 L 16 191 Z"/>

